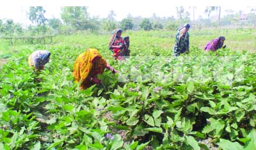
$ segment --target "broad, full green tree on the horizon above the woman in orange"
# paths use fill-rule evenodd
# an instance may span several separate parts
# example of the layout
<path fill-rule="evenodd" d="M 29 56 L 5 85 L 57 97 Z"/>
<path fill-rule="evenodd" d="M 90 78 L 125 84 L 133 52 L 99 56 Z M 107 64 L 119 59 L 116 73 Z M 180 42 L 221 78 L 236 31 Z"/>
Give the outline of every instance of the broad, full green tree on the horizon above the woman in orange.
<path fill-rule="evenodd" d="M 77 30 L 88 29 L 89 15 L 85 6 L 67 6 L 61 8 L 61 19 Z"/>

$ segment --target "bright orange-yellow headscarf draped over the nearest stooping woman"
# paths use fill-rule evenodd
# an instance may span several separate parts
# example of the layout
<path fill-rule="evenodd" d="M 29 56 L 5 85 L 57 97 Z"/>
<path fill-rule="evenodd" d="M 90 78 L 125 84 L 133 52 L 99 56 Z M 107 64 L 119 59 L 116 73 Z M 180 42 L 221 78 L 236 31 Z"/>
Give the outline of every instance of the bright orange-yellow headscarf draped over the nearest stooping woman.
<path fill-rule="evenodd" d="M 99 57 L 99 59 L 97 59 L 96 64 L 93 64 L 95 57 Z M 83 82 L 91 73 L 93 65 L 97 68 L 97 73 L 102 73 L 107 65 L 97 49 L 88 49 L 80 54 L 74 64 L 73 76 L 75 82 L 79 82 L 80 80 Z"/>

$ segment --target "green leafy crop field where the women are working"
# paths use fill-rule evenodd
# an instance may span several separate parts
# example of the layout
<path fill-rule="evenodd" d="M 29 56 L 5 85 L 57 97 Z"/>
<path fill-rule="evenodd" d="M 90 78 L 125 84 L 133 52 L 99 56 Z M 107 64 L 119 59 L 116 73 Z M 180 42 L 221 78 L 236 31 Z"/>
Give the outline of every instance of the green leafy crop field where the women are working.
<path fill-rule="evenodd" d="M 2 40 L 0 149 L 256 149 L 255 31 L 191 29 L 190 53 L 180 57 L 172 57 L 174 31 L 127 31 L 125 61 L 111 57 L 110 33 L 45 45 Z M 227 48 L 204 52 L 220 35 Z M 72 70 L 88 48 L 118 73 L 81 91 Z M 39 74 L 28 67 L 36 49 L 51 51 Z"/>

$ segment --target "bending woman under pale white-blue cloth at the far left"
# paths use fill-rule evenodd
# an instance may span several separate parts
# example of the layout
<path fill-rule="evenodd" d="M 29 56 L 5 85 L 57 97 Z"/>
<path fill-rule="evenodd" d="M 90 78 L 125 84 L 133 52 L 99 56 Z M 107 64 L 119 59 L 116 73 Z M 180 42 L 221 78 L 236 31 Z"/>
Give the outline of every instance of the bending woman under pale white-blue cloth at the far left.
<path fill-rule="evenodd" d="M 29 67 L 35 67 L 35 70 L 44 69 L 44 65 L 49 62 L 51 52 L 48 50 L 36 50 L 28 57 Z"/>

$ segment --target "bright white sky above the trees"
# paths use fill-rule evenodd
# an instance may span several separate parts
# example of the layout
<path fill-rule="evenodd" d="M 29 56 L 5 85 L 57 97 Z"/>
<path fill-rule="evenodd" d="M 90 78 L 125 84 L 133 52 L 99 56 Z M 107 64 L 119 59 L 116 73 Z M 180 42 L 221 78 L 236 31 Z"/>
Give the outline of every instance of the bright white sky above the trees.
<path fill-rule="evenodd" d="M 199 15 L 206 17 L 204 10 L 206 6 L 221 6 L 221 12 L 225 15 L 225 10 L 242 10 L 244 13 L 250 9 L 248 6 L 256 8 L 255 0 L 7 0 L 0 5 L 0 19 L 13 19 L 28 26 L 30 21 L 26 15 L 29 6 L 43 6 L 46 10 L 45 17 L 60 18 L 61 6 L 87 6 L 90 17 L 98 16 L 106 18 L 109 11 L 116 14 L 115 19 L 120 21 L 131 14 L 132 17 L 152 17 L 156 13 L 159 17 L 177 17 L 176 7 L 184 6 L 185 10 L 193 14 L 189 6 L 196 6 L 195 18 Z M 212 13 L 214 15 L 214 13 Z M 192 15 L 191 15 L 192 17 Z"/>

